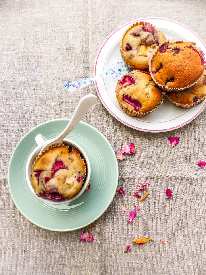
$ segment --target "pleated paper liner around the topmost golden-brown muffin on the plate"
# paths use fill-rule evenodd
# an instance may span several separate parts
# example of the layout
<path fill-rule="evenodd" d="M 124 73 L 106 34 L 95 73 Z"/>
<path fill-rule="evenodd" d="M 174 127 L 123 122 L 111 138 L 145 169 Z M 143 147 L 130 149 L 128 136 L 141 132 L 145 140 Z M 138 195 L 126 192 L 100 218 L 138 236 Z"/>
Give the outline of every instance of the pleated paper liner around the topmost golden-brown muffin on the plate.
<path fill-rule="evenodd" d="M 164 44 L 165 42 L 169 42 L 169 44 L 172 44 L 174 42 L 176 42 L 177 40 L 176 39 L 172 39 L 172 40 L 165 40 L 163 43 L 160 43 L 158 46 L 156 46 L 156 48 L 150 53 L 150 56 L 148 56 L 148 59 L 149 59 L 149 73 L 153 79 L 153 81 L 163 90 L 166 90 L 168 92 L 173 92 L 173 91 L 183 91 L 183 90 L 186 90 L 187 88 L 190 88 L 192 87 L 193 85 L 195 85 L 199 80 L 200 80 L 200 77 L 195 81 L 193 82 L 192 84 L 186 86 L 186 87 L 183 87 L 183 88 L 169 88 L 168 86 L 165 86 L 165 85 L 162 85 L 162 84 L 159 84 L 158 81 L 155 80 L 153 74 L 152 74 L 152 70 L 151 70 L 151 61 L 153 59 L 153 56 L 156 54 L 157 50 L 159 49 L 159 47 L 161 47 L 162 44 Z M 182 40 L 183 42 L 189 42 L 189 43 L 193 43 L 193 41 L 189 41 L 189 40 Z M 201 50 L 200 47 L 197 47 L 198 49 Z M 202 50 L 201 50 L 202 52 Z M 203 53 L 203 52 L 202 52 Z M 203 53 L 204 55 L 204 53 Z M 205 59 L 205 58 L 204 58 Z"/>

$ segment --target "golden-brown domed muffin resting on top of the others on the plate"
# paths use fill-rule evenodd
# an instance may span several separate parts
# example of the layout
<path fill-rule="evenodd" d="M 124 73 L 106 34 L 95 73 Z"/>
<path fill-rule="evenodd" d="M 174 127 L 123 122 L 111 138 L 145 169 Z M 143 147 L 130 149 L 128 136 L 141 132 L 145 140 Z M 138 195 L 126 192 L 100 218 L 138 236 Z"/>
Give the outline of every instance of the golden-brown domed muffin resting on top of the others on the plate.
<path fill-rule="evenodd" d="M 149 71 L 163 89 L 184 90 L 199 80 L 204 63 L 204 55 L 195 43 L 165 41 L 153 53 Z"/>

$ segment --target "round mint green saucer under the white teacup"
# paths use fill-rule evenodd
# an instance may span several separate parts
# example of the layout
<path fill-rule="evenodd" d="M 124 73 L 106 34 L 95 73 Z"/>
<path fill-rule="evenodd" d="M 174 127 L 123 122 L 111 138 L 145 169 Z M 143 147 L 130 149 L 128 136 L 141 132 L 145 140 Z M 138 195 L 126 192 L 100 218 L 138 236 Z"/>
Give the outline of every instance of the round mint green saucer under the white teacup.
<path fill-rule="evenodd" d="M 37 146 L 37 134 L 54 138 L 66 127 L 69 119 L 44 122 L 29 131 L 17 144 L 9 162 L 8 184 L 18 210 L 30 222 L 53 231 L 72 231 L 97 220 L 109 207 L 118 184 L 118 164 L 109 141 L 94 127 L 80 122 L 67 136 L 79 144 L 91 164 L 90 190 L 70 202 L 70 209 L 56 209 L 41 202 L 26 183 L 25 167 L 28 156 Z"/>

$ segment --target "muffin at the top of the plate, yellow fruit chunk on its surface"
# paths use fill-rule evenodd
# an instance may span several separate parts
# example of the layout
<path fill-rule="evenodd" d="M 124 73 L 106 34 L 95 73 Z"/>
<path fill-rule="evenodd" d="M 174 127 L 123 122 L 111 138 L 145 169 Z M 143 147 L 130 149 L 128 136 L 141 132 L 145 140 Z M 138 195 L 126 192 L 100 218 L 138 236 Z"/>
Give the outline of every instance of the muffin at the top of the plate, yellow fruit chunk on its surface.
<path fill-rule="evenodd" d="M 165 40 L 164 34 L 152 24 L 139 22 L 125 32 L 120 50 L 129 67 L 144 70 L 148 68 L 148 54 Z"/>

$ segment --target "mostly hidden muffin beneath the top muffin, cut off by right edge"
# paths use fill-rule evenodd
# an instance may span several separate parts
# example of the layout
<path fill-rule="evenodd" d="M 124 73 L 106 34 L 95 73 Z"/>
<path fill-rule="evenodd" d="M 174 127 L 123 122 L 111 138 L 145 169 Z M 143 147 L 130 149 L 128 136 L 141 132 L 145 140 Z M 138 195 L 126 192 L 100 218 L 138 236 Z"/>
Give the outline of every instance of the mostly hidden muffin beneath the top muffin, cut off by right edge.
<path fill-rule="evenodd" d="M 169 100 L 183 108 L 194 107 L 206 98 L 206 70 L 200 76 L 200 80 L 192 87 L 180 92 L 166 92 Z"/>

